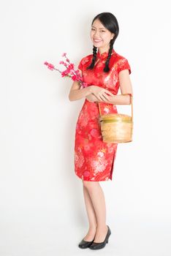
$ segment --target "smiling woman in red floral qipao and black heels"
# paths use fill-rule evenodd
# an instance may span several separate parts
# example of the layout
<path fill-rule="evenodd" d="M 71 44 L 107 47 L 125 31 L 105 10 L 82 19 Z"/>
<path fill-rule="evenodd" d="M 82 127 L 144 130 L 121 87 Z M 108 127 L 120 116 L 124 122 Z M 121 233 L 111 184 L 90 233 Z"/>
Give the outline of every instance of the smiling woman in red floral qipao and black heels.
<path fill-rule="evenodd" d="M 82 178 L 89 229 L 80 248 L 102 249 L 111 234 L 106 225 L 104 192 L 99 181 L 112 180 L 117 143 L 104 143 L 99 126 L 103 113 L 118 113 L 115 105 L 129 105 L 132 94 L 131 68 L 126 58 L 113 49 L 118 37 L 118 20 L 110 12 L 96 15 L 91 23 L 93 54 L 81 59 L 78 69 L 88 86 L 79 89 L 75 81 L 69 100 L 86 97 L 75 130 L 75 174 Z M 133 95 L 133 94 L 132 94 Z"/>

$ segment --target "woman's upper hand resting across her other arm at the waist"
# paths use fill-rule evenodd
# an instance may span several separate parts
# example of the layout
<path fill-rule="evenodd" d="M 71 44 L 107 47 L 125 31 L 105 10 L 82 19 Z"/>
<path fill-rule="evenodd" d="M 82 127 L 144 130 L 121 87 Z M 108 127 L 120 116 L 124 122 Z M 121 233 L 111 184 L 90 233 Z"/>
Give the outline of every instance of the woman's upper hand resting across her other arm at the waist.
<path fill-rule="evenodd" d="M 110 96 L 115 96 L 115 94 L 112 94 L 110 91 L 102 87 L 99 87 L 99 86 L 90 86 L 90 87 L 91 87 L 91 93 L 94 94 L 94 96 L 97 99 L 99 99 L 99 101 L 105 102 L 106 100 L 109 100 L 109 97 L 107 96 L 107 94 L 109 94 Z"/>

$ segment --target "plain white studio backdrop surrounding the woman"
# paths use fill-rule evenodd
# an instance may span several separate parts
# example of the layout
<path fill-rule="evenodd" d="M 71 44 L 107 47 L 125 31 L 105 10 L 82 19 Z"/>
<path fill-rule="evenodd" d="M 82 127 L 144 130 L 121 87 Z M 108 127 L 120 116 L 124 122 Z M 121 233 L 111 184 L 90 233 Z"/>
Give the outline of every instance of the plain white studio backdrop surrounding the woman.
<path fill-rule="evenodd" d="M 88 219 L 75 175 L 75 125 L 62 53 L 92 53 L 91 21 L 112 12 L 114 49 L 128 59 L 132 143 L 118 144 L 113 181 L 101 182 L 112 235 L 99 255 L 171 254 L 170 1 L 7 0 L 0 5 L 0 255 L 91 255 L 78 248 Z M 117 106 L 131 113 L 129 105 Z"/>

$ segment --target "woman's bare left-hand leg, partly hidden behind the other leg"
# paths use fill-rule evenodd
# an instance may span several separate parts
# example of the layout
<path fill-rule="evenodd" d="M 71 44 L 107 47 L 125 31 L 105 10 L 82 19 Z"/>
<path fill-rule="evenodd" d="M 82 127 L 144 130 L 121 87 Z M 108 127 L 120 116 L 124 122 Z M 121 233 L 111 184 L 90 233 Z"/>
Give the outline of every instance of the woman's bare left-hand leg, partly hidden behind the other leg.
<path fill-rule="evenodd" d="M 96 234 L 96 214 L 94 211 L 93 203 L 91 201 L 91 197 L 88 194 L 88 190 L 86 189 L 85 186 L 83 186 L 83 195 L 84 195 L 86 211 L 88 215 L 88 222 L 89 222 L 89 230 L 87 235 L 84 237 L 84 240 L 92 241 L 94 240 L 94 236 Z"/>

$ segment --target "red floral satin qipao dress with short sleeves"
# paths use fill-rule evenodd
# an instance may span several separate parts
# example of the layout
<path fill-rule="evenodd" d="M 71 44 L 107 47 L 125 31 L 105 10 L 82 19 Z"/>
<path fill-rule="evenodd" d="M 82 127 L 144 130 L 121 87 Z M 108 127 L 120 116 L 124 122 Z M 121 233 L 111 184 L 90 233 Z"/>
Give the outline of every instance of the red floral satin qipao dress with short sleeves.
<path fill-rule="evenodd" d="M 88 86 L 94 85 L 118 93 L 118 74 L 123 69 L 131 68 L 126 58 L 113 49 L 110 58 L 110 72 L 103 72 L 108 53 L 96 54 L 93 69 L 87 69 L 91 64 L 93 54 L 83 57 L 78 68 L 82 70 L 83 81 Z M 102 115 L 118 113 L 115 105 L 99 102 Z M 112 181 L 113 165 L 118 143 L 104 143 L 99 124 L 99 107 L 97 102 L 85 99 L 77 118 L 75 129 L 75 174 L 84 181 Z"/>

